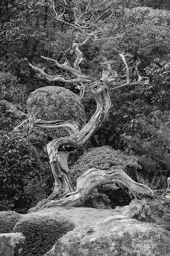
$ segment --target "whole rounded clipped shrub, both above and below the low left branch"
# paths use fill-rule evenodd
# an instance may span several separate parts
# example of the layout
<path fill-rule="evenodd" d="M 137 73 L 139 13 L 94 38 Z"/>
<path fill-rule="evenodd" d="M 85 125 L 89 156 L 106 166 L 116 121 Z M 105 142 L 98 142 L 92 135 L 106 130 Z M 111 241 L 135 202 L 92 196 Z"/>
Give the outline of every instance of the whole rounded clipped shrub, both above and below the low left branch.
<path fill-rule="evenodd" d="M 85 111 L 78 96 L 70 90 L 59 86 L 46 86 L 32 92 L 27 100 L 27 111 L 29 115 L 36 114 L 42 120 L 73 120 L 79 123 L 81 128 L 86 121 Z M 35 128 L 30 135 L 32 144 L 43 156 L 49 141 L 69 136 L 64 128 L 42 129 Z M 42 151 L 42 152 L 41 152 Z"/>

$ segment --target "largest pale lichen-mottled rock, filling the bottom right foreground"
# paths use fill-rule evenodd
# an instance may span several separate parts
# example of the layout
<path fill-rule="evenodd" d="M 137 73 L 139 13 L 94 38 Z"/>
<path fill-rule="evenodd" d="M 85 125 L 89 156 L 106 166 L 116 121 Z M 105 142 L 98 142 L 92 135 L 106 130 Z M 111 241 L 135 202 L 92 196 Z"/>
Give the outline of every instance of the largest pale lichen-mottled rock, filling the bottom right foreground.
<path fill-rule="evenodd" d="M 166 230 L 117 215 L 82 225 L 60 237 L 44 256 L 169 256 Z"/>

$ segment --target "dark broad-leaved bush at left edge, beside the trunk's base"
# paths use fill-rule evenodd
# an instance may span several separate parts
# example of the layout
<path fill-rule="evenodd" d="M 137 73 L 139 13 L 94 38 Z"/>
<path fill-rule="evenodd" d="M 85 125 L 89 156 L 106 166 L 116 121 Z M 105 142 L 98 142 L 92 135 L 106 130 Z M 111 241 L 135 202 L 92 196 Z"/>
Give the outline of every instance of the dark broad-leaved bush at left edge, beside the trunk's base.
<path fill-rule="evenodd" d="M 0 198 L 9 209 L 25 213 L 49 194 L 53 183 L 51 168 L 40 162 L 27 139 L 13 142 L 0 131 L 0 165 Z M 51 180 L 46 185 L 49 176 Z M 30 185 L 34 185 L 34 195 L 28 193 Z"/>

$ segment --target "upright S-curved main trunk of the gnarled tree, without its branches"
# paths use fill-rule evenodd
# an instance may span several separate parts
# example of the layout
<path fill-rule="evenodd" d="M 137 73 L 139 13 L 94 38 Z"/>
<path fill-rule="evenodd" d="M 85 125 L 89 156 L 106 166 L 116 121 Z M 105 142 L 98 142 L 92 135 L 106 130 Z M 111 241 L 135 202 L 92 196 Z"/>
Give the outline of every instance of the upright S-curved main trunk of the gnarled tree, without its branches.
<path fill-rule="evenodd" d="M 79 148 L 91 137 L 108 115 L 111 106 L 107 86 L 103 85 L 101 82 L 99 83 L 100 87 L 95 91 L 97 103 L 96 112 L 89 122 L 80 132 L 72 132 L 72 135 L 69 137 L 54 139 L 47 145 L 50 165 L 54 176 L 54 189 L 53 193 L 48 198 L 38 203 L 39 207 L 47 204 L 52 199 L 65 198 L 70 193 L 74 192 L 70 180 L 70 171 L 67 165 L 67 159 L 70 154 L 69 151 Z M 39 123 L 36 125 L 38 126 Z"/>

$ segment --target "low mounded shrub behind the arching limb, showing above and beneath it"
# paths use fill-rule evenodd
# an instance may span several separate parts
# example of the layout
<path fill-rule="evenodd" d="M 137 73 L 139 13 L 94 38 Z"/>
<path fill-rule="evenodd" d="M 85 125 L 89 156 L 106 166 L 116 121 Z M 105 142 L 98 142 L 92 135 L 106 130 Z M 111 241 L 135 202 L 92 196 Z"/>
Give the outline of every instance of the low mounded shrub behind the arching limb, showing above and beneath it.
<path fill-rule="evenodd" d="M 124 152 L 114 150 L 110 146 L 91 148 L 80 156 L 78 161 L 71 166 L 71 178 L 73 183 L 75 184 L 75 180 L 78 176 L 91 168 L 100 170 L 121 169 L 129 172 L 140 168 L 140 165 L 138 164 L 136 156 L 125 155 Z M 110 208 L 112 204 L 110 198 L 114 198 L 115 190 L 117 189 L 118 187 L 115 184 L 99 186 L 93 189 L 87 196 L 83 206 Z"/>

